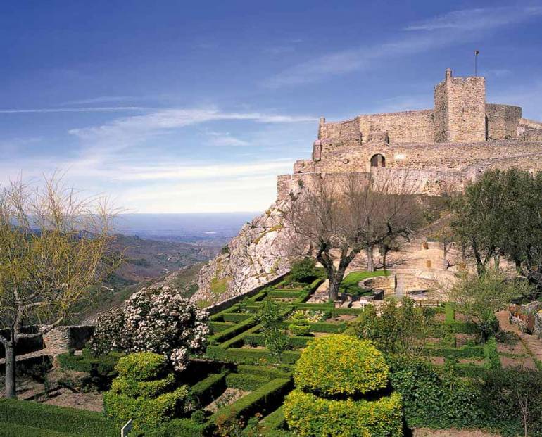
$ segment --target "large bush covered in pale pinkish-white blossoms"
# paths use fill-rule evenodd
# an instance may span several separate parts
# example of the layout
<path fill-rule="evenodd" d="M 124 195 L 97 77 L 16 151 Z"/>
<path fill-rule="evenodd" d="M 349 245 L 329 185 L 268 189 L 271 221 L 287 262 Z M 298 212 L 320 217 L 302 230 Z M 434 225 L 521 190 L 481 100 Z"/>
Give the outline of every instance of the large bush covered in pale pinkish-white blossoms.
<path fill-rule="evenodd" d="M 165 355 L 177 371 L 187 367 L 190 353 L 206 348 L 208 314 L 169 286 L 146 287 L 121 308 L 99 316 L 91 348 L 94 355 L 111 350 Z"/>

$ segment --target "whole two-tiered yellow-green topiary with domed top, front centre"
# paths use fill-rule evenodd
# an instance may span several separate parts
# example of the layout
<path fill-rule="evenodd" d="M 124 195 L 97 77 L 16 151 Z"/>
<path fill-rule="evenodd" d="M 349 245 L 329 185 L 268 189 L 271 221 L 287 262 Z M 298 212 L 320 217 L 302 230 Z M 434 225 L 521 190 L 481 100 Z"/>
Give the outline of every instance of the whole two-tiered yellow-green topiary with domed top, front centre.
<path fill-rule="evenodd" d="M 388 375 L 370 341 L 344 334 L 318 338 L 296 362 L 296 388 L 284 400 L 286 422 L 301 437 L 403 436 L 401 395 L 381 391 Z M 370 398 L 363 397 L 367 393 Z"/>

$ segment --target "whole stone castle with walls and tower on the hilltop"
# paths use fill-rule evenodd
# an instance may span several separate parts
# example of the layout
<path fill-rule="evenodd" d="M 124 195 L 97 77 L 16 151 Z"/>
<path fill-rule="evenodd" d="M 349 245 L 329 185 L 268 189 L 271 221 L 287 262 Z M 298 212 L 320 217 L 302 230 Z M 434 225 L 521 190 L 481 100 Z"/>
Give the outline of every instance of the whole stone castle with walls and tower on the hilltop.
<path fill-rule="evenodd" d="M 278 177 L 279 199 L 296 184 L 351 172 L 408 172 L 417 190 L 439 194 L 461 188 L 489 168 L 542 170 L 542 122 L 522 118 L 519 106 L 486 103 L 485 77 L 453 77 L 434 88 L 434 108 L 320 118 L 310 160 Z"/>

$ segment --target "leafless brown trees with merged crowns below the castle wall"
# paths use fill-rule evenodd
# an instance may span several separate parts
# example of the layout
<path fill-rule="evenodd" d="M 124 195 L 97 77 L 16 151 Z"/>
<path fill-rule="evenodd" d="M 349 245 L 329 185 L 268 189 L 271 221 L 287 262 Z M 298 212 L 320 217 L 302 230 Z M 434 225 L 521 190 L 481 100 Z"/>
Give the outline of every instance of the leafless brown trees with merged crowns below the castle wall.
<path fill-rule="evenodd" d="M 414 192 L 406 174 L 352 173 L 341 181 L 320 179 L 292 199 L 284 213 L 292 252 L 315 253 L 327 272 L 330 300 L 338 298 L 346 267 L 361 251 L 372 271 L 375 246 L 410 236 L 420 222 Z"/>

